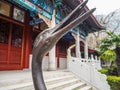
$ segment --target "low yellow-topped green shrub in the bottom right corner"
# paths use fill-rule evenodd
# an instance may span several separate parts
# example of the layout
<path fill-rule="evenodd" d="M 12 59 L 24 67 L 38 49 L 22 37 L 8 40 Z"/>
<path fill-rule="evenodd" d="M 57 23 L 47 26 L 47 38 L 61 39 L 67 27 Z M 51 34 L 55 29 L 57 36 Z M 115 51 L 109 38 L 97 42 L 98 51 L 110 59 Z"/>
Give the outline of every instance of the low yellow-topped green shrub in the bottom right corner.
<path fill-rule="evenodd" d="M 108 76 L 107 81 L 111 87 L 111 90 L 120 90 L 120 77 Z"/>

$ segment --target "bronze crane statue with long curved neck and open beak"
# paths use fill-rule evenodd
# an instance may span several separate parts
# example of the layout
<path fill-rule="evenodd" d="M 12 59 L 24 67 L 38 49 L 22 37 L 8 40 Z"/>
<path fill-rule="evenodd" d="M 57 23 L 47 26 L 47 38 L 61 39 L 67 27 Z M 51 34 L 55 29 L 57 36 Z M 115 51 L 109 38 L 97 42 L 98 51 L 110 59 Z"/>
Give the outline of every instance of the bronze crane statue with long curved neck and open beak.
<path fill-rule="evenodd" d="M 42 73 L 42 60 L 44 55 L 48 53 L 57 41 L 70 29 L 79 25 L 95 11 L 94 8 L 82 13 L 83 7 L 86 3 L 87 1 L 82 2 L 56 27 L 44 30 L 36 37 L 32 58 L 32 78 L 35 90 L 47 90 Z M 80 13 L 78 13 L 78 10 Z M 75 18 L 76 15 L 77 17 Z"/>

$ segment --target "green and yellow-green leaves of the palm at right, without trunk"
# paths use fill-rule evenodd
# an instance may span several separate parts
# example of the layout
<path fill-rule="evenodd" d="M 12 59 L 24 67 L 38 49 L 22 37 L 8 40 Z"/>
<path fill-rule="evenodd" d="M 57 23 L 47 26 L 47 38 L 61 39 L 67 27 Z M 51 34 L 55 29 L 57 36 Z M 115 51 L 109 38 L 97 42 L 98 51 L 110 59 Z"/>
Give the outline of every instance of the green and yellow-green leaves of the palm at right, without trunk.
<path fill-rule="evenodd" d="M 116 52 L 115 49 L 120 47 L 120 35 L 115 34 L 114 32 L 106 32 L 108 34 L 107 38 L 101 40 L 101 44 L 99 46 L 100 58 L 102 60 L 116 60 Z"/>

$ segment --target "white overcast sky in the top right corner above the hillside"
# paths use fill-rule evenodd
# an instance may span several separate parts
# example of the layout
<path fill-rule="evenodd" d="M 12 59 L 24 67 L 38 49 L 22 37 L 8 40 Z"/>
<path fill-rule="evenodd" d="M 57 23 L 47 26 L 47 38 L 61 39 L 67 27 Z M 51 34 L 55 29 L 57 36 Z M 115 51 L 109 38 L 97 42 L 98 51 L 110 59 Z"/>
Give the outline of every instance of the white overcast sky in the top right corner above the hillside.
<path fill-rule="evenodd" d="M 120 9 L 120 0 L 88 0 L 87 6 L 89 9 L 96 8 L 94 15 L 107 15 Z"/>

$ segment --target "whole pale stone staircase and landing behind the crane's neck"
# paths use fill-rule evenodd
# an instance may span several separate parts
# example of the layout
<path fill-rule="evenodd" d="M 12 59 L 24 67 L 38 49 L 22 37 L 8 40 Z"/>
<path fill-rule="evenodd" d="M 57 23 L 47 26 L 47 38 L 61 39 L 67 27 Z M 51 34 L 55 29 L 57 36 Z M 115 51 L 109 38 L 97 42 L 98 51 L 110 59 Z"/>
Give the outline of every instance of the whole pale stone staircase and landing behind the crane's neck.
<path fill-rule="evenodd" d="M 95 90 L 66 70 L 43 72 L 47 90 Z M 31 71 L 0 72 L 0 90 L 34 90 Z"/>

